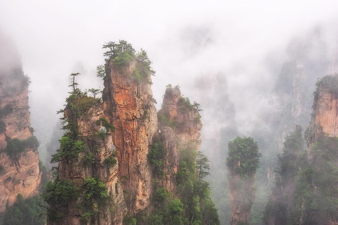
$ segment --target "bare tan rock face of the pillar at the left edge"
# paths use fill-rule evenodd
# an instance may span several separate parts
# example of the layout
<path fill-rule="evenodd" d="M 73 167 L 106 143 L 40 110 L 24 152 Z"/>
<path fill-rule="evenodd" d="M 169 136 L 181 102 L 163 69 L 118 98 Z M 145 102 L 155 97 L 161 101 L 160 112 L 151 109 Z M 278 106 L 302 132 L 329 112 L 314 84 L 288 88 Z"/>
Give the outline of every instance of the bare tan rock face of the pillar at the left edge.
<path fill-rule="evenodd" d="M 0 76 L 0 212 L 12 205 L 18 193 L 25 198 L 38 192 L 41 182 L 39 155 L 35 147 L 26 147 L 11 155 L 5 150 L 10 139 L 32 136 L 28 107 L 28 83 L 21 70 L 13 76 Z"/>

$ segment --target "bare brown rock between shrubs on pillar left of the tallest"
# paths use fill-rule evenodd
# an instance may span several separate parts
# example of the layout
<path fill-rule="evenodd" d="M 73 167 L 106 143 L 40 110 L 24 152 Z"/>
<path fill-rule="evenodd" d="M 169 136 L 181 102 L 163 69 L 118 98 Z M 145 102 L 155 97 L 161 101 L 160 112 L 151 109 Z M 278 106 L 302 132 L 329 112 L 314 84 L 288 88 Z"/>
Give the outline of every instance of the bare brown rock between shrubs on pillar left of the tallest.
<path fill-rule="evenodd" d="M 83 207 L 84 199 L 81 197 L 72 201 L 63 210 L 62 221 L 48 221 L 48 224 L 96 224 L 107 225 L 122 224 L 122 220 L 127 213 L 127 206 L 124 201 L 123 189 L 117 176 L 118 163 L 111 166 L 106 163 L 108 158 L 115 158 L 115 146 L 110 131 L 106 132 L 104 128 L 97 123 L 100 118 L 104 118 L 103 106 L 98 99 L 87 96 L 78 97 L 89 99 L 92 105 L 83 114 L 75 119 L 78 126 L 79 139 L 86 145 L 86 151 L 79 154 L 78 160 L 61 161 L 58 164 L 58 178 L 60 180 L 73 180 L 78 187 L 84 185 L 86 177 L 98 177 L 107 187 L 108 198 L 111 199 L 111 205 L 99 205 L 99 213 L 94 214 L 88 222 L 84 222 L 81 215 L 87 212 Z M 84 101 L 83 101 L 84 102 Z M 65 109 L 65 117 L 70 118 L 70 108 Z M 103 129 L 106 134 L 99 136 L 99 131 Z M 86 161 L 86 156 L 92 154 L 91 162 Z"/>

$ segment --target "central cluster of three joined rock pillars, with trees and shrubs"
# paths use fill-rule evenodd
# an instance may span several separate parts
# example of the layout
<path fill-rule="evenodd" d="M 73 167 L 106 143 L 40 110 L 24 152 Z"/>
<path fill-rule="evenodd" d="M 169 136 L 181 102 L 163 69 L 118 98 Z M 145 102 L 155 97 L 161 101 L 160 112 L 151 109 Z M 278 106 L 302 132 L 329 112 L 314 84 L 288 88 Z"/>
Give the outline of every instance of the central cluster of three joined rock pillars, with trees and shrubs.
<path fill-rule="evenodd" d="M 47 224 L 219 225 L 203 180 L 209 160 L 197 151 L 199 104 L 168 87 L 157 117 L 146 52 L 123 40 L 107 46 L 109 58 L 98 66 L 102 100 L 78 89 L 79 74 L 71 75 L 61 110 L 66 132 L 51 160 L 59 163 L 58 178 L 43 194 Z"/>

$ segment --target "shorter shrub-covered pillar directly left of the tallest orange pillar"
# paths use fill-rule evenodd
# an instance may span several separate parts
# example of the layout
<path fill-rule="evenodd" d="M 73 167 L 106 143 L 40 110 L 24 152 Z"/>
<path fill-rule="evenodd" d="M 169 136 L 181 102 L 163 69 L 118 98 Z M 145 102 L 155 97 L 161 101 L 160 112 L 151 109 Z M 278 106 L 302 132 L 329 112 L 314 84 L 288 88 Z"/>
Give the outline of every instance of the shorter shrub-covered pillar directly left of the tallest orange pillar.
<path fill-rule="evenodd" d="M 48 224 L 122 224 L 127 213 L 111 132 L 99 99 L 73 93 L 64 110 L 65 135 L 52 162 L 58 178 L 46 186 Z M 72 189 L 68 188 L 72 187 Z M 61 201 L 62 193 L 66 199 Z"/>

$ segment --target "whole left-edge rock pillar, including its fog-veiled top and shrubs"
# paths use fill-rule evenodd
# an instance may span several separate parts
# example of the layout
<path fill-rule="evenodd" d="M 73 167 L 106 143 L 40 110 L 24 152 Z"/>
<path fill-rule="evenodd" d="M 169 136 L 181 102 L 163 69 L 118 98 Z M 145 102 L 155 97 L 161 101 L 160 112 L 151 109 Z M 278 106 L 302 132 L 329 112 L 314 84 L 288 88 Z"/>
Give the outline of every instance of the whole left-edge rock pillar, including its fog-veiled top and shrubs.
<path fill-rule="evenodd" d="M 38 141 L 30 127 L 29 78 L 15 48 L 0 35 L 0 212 L 20 193 L 38 192 L 41 182 Z M 14 49 L 13 49 L 14 48 Z"/>

